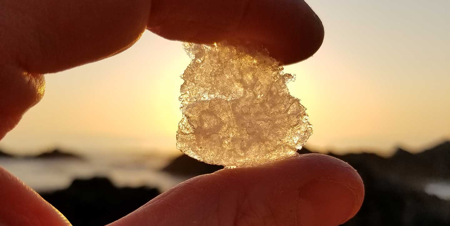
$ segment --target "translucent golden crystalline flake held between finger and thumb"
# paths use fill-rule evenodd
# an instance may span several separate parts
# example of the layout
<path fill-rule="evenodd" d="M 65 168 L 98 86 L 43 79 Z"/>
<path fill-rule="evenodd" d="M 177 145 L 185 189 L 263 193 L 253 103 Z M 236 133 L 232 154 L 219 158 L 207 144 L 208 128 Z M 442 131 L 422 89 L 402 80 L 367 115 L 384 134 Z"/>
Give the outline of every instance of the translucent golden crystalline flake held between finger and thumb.
<path fill-rule="evenodd" d="M 296 155 L 312 134 L 294 79 L 265 51 L 184 43 L 177 148 L 209 164 L 247 167 Z"/>

